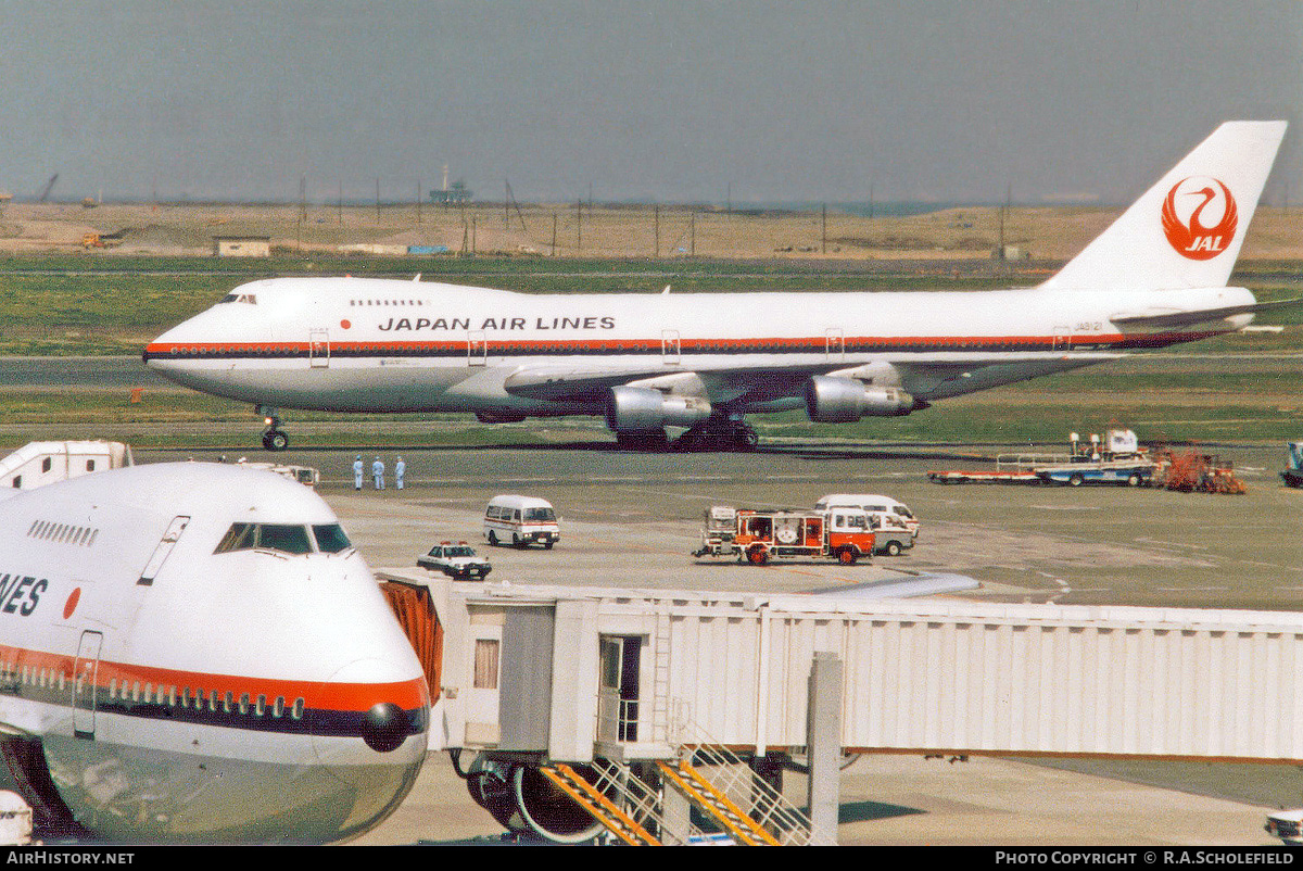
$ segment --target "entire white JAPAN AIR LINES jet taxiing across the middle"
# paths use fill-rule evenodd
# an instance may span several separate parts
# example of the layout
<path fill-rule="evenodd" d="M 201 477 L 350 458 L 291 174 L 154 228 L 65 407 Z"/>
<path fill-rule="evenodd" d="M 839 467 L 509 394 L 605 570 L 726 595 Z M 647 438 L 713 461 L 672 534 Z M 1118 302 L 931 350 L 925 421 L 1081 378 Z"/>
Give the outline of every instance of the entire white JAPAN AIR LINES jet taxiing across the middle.
<path fill-rule="evenodd" d="M 1265 306 L 1226 287 L 1285 136 L 1229 121 L 1040 287 L 984 292 L 513 293 L 433 282 L 244 284 L 160 335 L 146 364 L 281 408 L 605 415 L 622 443 L 745 447 L 748 412 L 820 422 L 932 403 L 1121 352 L 1239 330 Z"/>

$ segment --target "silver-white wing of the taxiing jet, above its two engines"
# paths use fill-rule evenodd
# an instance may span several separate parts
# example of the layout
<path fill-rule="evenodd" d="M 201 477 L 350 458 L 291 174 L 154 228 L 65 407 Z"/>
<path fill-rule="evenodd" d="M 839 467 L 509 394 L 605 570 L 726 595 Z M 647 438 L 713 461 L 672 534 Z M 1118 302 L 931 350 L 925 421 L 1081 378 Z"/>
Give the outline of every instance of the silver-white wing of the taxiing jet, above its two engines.
<path fill-rule="evenodd" d="M 691 368 L 642 362 L 612 369 L 579 364 L 525 366 L 508 376 L 503 386 L 513 396 L 550 402 L 602 403 L 611 387 L 631 385 L 700 395 L 717 406 L 747 406 L 800 396 L 805 381 L 812 376 L 835 373 L 850 377 L 883 377 L 882 383 L 898 386 L 920 399 L 926 399 L 938 390 L 947 396 L 969 392 L 966 389 L 945 389 L 947 383 L 959 385 L 966 379 L 973 379 L 973 387 L 977 383 L 988 386 L 993 379 L 1009 383 L 1123 356 L 1126 355 L 1068 351 L 900 352 L 876 356 L 872 361 L 861 362 L 822 360 L 775 364 L 767 360 L 739 365 L 735 357 L 721 357 L 718 361 L 693 361 Z"/>

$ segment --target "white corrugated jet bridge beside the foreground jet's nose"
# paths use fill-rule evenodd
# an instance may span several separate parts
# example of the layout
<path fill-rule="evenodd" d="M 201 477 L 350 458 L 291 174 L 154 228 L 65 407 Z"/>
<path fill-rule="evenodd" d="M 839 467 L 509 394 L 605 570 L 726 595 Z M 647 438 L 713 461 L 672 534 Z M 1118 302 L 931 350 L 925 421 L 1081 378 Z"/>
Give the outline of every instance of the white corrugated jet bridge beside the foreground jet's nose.
<path fill-rule="evenodd" d="M 830 722 L 846 754 L 1303 764 L 1303 614 L 382 580 L 427 591 L 431 742 L 477 754 L 481 785 L 615 764 L 668 794 L 706 746 L 773 781 Z M 827 657 L 833 713 L 809 717 Z"/>

